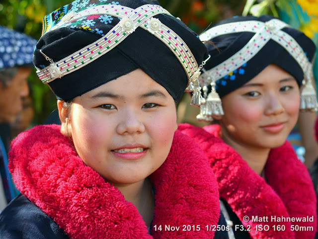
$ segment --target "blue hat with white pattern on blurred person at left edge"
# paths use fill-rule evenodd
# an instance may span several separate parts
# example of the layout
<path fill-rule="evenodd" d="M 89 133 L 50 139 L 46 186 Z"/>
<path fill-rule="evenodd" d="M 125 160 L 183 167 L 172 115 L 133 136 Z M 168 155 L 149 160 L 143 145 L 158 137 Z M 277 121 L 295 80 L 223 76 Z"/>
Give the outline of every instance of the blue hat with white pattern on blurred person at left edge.
<path fill-rule="evenodd" d="M 32 64 L 37 41 L 23 33 L 0 26 L 0 70 Z"/>

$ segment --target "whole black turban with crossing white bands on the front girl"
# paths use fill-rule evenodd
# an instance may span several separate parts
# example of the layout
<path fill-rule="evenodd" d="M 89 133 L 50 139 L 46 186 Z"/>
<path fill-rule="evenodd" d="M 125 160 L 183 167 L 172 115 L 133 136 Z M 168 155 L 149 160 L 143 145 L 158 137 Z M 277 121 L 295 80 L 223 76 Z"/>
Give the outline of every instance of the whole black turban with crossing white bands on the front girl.
<path fill-rule="evenodd" d="M 58 99 L 73 99 L 140 68 L 162 85 L 175 101 L 178 101 L 188 85 L 188 79 L 199 68 L 203 60 L 207 59 L 208 53 L 198 36 L 180 19 L 165 12 L 157 14 L 156 12 L 161 11 L 161 8 L 155 0 L 118 0 L 112 3 L 106 0 L 75 0 L 44 17 L 43 35 L 36 46 L 33 63 L 39 70 L 38 72 L 42 71 L 42 78 L 46 77 L 45 73 L 50 73 L 49 77 L 55 76 L 52 81 L 48 81 L 48 84 Z M 112 10 L 113 13 L 107 14 L 105 9 L 108 9 L 109 12 Z M 136 10 L 134 20 L 126 19 L 127 21 L 120 22 L 124 19 L 121 18 L 122 15 L 134 14 L 135 9 L 138 9 L 141 17 L 144 18 L 138 18 L 139 13 Z M 90 10 L 89 14 L 86 12 L 87 10 Z M 149 18 L 149 15 L 154 14 L 154 12 L 156 14 L 154 18 L 159 19 L 159 21 L 155 19 L 153 23 L 150 23 L 151 19 L 148 19 L 140 22 L 140 19 L 145 19 L 147 16 Z M 80 14 L 83 16 L 81 17 Z M 139 20 L 137 21 L 137 19 Z M 145 26 L 153 24 L 155 30 L 147 30 L 146 27 L 144 29 L 142 27 L 129 28 L 132 24 L 141 23 L 144 23 Z M 156 27 L 161 23 L 161 28 L 166 26 L 168 30 L 164 28 L 165 31 L 164 29 L 157 31 Z M 85 59 L 80 58 L 80 61 L 79 58 L 75 59 L 75 55 L 85 57 L 83 51 L 79 52 L 79 50 L 96 43 L 114 31 L 114 27 L 118 28 L 119 26 L 122 26 L 123 29 L 120 34 L 128 36 L 123 41 L 119 41 L 117 45 L 112 46 L 106 54 L 100 57 L 98 54 L 97 57 L 91 55 L 94 61 L 89 64 L 86 64 L 86 61 L 89 61 L 89 56 L 86 56 Z M 162 42 L 160 37 L 156 37 L 154 31 L 157 31 L 156 34 L 162 33 L 162 39 L 166 42 Z M 115 38 L 104 40 L 113 43 L 120 40 L 121 37 L 122 35 L 118 34 Z M 184 43 L 178 44 L 176 42 L 180 39 Z M 168 47 L 173 44 L 175 50 Z M 106 47 L 98 46 L 100 49 L 96 50 L 94 46 L 95 50 L 93 51 L 87 47 L 87 54 L 90 54 L 90 51 L 95 54 L 99 50 L 100 52 L 106 50 Z M 181 53 L 176 54 L 180 49 Z M 182 63 L 180 59 L 184 57 L 183 54 L 192 55 L 185 57 Z M 71 63 L 74 59 L 75 63 Z M 81 62 L 84 66 L 80 68 Z M 195 67 L 193 67 L 194 62 L 197 63 Z M 50 63 L 55 68 L 52 68 Z M 190 64 L 188 69 L 182 65 L 187 63 Z M 69 69 L 66 71 L 71 71 L 73 68 L 78 69 L 72 73 L 65 72 L 66 74 L 61 76 L 61 72 L 65 71 L 67 67 Z M 45 73 L 43 73 L 43 69 Z"/>

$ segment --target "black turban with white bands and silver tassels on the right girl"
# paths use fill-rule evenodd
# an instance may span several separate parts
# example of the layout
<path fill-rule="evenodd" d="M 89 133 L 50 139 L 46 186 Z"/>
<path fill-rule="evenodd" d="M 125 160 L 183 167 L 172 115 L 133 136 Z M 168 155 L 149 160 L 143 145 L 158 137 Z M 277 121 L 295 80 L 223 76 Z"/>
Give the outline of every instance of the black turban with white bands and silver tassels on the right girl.
<path fill-rule="evenodd" d="M 228 49 L 232 48 L 232 51 L 227 51 L 227 47 L 223 48 L 221 44 L 221 55 L 226 55 L 226 58 L 223 57 L 222 60 L 219 58 L 219 60 L 216 60 L 217 63 L 213 62 L 214 66 L 211 68 L 206 66 L 204 73 L 199 77 L 199 84 L 203 87 L 207 101 L 206 105 L 201 106 L 201 113 L 197 116 L 199 120 L 212 121 L 212 115 L 223 115 L 220 97 L 251 80 L 271 63 L 277 64 L 293 75 L 299 85 L 305 85 L 302 90 L 301 110 L 317 109 L 316 92 L 311 83 L 312 63 L 308 60 L 308 56 L 306 56 L 299 42 L 292 36 L 294 35 L 300 40 L 300 32 L 293 29 L 293 34 L 289 34 L 282 30 L 290 28 L 285 22 L 269 16 L 263 16 L 261 19 L 264 18 L 266 19 L 265 22 L 255 19 L 255 17 L 251 20 L 243 18 L 243 21 L 212 27 L 200 35 L 202 41 L 212 40 L 216 42 L 217 46 L 219 44 L 218 41 L 221 42 L 224 38 L 232 37 L 228 40 L 231 41 L 230 44 L 226 42 Z M 238 36 L 239 33 L 241 35 Z M 248 36 L 246 36 L 247 33 L 249 34 Z M 295 33 L 298 34 L 295 35 Z M 237 38 L 236 36 L 231 36 L 232 34 L 236 34 Z M 224 38 L 222 38 L 223 36 Z M 244 40 L 240 38 L 244 38 Z M 246 38 L 249 40 L 245 44 Z M 239 40 L 235 42 L 233 39 Z M 305 40 L 307 42 L 311 41 L 309 38 Z M 300 42 L 304 43 L 304 40 L 302 39 Z M 271 48 L 264 48 L 267 45 L 270 45 Z M 310 50 L 314 52 L 315 46 L 313 46 L 313 43 L 309 45 L 309 48 L 312 48 Z M 280 55 L 275 55 L 274 51 L 276 50 L 281 52 Z M 211 51 L 209 53 L 213 56 Z M 290 66 L 286 65 L 286 62 Z M 249 68 L 247 70 L 247 65 L 252 65 L 252 69 Z M 295 65 L 298 65 L 296 67 L 299 69 L 298 72 L 295 72 L 297 71 L 295 69 L 291 69 Z M 211 87 L 211 93 L 209 94 L 207 94 L 208 87 Z"/>

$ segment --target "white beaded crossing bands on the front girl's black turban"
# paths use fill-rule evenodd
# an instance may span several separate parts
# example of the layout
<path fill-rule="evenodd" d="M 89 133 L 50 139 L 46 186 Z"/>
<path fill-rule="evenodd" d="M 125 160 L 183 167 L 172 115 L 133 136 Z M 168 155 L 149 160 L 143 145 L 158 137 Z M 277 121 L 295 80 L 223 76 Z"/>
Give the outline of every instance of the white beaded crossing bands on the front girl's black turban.
<path fill-rule="evenodd" d="M 53 57 L 46 53 L 44 49 L 40 49 L 40 53 L 45 57 L 47 61 L 50 62 L 49 66 L 37 71 L 37 74 L 43 83 L 50 83 L 54 80 L 61 79 L 71 73 L 78 71 L 84 66 L 87 66 L 104 54 L 111 52 L 111 50 L 121 45 L 122 42 L 125 41 L 125 39 L 130 39 L 130 36 L 137 34 L 137 28 L 142 28 L 143 30 L 147 31 L 148 34 L 155 36 L 162 43 L 164 43 L 164 45 L 168 47 L 168 49 L 170 49 L 174 57 L 182 66 L 187 79 L 189 79 L 190 82 L 197 81 L 197 77 L 198 75 L 200 75 L 199 69 L 201 69 L 203 65 L 199 66 L 197 64 L 195 56 L 192 54 L 185 41 L 183 41 L 182 38 L 170 27 L 161 22 L 159 18 L 155 17 L 159 14 L 173 17 L 160 5 L 144 4 L 133 9 L 128 6 L 102 4 L 93 5 L 78 12 L 73 11 L 71 8 L 71 10 L 67 12 L 67 14 L 59 19 L 57 24 L 48 25 L 47 27 L 45 27 L 43 36 L 62 29 L 65 26 L 69 26 L 70 24 L 72 24 L 72 22 L 77 22 L 80 19 L 93 18 L 94 16 L 96 16 L 96 14 L 98 14 L 98 16 L 107 15 L 108 17 L 117 17 L 120 19 L 120 21 L 98 40 L 90 43 L 89 45 L 85 45 L 80 50 L 68 55 L 67 57 L 59 61 L 54 61 Z M 206 52 L 201 51 L 201 54 L 202 56 L 207 58 Z M 202 64 L 205 64 L 205 61 L 203 60 L 201 62 L 203 62 Z M 148 74 L 147 71 L 145 72 Z M 161 83 L 161 85 L 164 84 Z M 198 91 L 200 89 L 195 88 L 195 90 Z M 171 94 L 171 92 L 169 93 Z M 193 101 L 200 102 L 200 96 L 201 95 L 198 95 L 199 98 L 194 99 Z M 177 98 L 179 98 L 179 96 Z"/>

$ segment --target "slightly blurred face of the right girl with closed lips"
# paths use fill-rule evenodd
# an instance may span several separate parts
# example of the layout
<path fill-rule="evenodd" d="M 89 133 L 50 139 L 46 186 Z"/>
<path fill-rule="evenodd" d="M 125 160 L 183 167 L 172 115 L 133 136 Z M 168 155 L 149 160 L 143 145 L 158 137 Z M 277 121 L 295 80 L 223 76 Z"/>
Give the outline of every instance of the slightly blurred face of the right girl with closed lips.
<path fill-rule="evenodd" d="M 300 90 L 296 80 L 271 64 L 222 97 L 222 137 L 230 146 L 279 147 L 297 122 L 299 105 Z"/>

